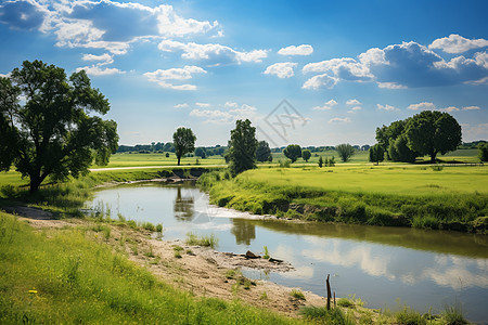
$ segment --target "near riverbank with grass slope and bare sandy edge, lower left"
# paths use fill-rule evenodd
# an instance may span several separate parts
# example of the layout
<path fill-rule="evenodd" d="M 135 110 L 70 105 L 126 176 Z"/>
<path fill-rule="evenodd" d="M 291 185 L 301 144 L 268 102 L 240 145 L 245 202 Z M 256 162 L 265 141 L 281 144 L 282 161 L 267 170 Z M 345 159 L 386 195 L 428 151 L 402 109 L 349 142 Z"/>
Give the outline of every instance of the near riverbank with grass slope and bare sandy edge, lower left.
<path fill-rule="evenodd" d="M 200 317 L 216 324 L 294 324 L 307 323 L 299 313 L 304 307 L 325 304 L 312 292 L 244 277 L 241 257 L 162 240 L 125 224 L 24 213 L 0 212 L 2 322 L 153 323 L 159 317 L 196 324 Z M 247 268 L 273 268 L 262 259 L 249 261 Z M 356 303 L 344 314 L 348 324 L 389 318 Z"/>

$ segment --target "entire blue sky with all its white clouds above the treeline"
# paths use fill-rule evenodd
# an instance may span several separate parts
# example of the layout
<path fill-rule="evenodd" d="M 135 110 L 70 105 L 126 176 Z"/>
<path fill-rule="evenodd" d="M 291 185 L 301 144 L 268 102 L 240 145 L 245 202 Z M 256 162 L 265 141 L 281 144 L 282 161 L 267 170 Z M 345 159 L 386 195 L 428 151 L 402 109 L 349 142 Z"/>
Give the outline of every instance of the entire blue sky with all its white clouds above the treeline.
<path fill-rule="evenodd" d="M 0 74 L 84 68 L 120 144 L 226 144 L 249 118 L 270 145 L 375 143 L 422 109 L 488 140 L 488 2 L 0 2 Z M 283 100 L 286 100 L 283 102 Z"/>

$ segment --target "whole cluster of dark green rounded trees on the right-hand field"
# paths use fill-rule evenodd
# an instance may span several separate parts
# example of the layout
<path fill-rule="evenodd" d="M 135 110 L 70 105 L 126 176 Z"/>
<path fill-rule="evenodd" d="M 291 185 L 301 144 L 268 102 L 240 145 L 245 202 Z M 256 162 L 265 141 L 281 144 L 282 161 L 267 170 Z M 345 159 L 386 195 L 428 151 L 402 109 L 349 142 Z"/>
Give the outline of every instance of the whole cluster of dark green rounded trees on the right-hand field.
<path fill-rule="evenodd" d="M 377 128 L 376 141 L 388 160 L 413 162 L 428 155 L 435 161 L 437 154 L 455 151 L 461 144 L 461 126 L 448 113 L 424 110 Z"/>

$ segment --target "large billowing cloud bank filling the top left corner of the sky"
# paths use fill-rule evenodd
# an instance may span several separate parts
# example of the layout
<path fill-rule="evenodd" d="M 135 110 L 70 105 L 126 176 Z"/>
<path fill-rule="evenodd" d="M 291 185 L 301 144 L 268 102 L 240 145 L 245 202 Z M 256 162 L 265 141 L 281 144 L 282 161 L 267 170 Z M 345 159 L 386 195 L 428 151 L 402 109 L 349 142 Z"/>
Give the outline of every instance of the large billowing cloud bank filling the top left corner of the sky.
<path fill-rule="evenodd" d="M 0 22 L 53 34 L 57 47 L 104 49 L 113 54 L 127 53 L 131 43 L 144 38 L 220 31 L 218 22 L 182 17 L 169 4 L 111 0 L 13 0 L 0 6 Z"/>

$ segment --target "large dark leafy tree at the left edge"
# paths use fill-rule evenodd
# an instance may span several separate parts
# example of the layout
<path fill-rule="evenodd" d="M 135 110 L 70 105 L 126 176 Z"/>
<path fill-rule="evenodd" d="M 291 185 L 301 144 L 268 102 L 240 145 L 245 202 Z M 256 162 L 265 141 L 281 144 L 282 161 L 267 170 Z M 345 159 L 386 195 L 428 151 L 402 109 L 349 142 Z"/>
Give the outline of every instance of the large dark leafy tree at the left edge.
<path fill-rule="evenodd" d="M 1 169 L 13 164 L 36 192 L 47 177 L 85 174 L 93 160 L 106 165 L 117 150 L 117 125 L 89 113 L 108 109 L 84 70 L 67 79 L 63 68 L 25 61 L 0 78 Z"/>

